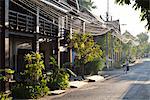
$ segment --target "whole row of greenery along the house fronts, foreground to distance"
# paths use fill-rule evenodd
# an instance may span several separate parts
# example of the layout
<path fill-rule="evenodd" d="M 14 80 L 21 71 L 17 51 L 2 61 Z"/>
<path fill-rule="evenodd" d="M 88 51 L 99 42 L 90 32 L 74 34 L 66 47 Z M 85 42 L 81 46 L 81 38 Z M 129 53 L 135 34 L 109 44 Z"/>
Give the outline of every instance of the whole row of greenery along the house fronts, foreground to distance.
<path fill-rule="evenodd" d="M 112 37 L 111 33 L 108 34 L 109 57 L 111 58 L 113 55 L 112 49 L 115 53 L 124 52 L 124 56 L 119 61 L 114 62 L 117 67 L 126 59 L 130 59 L 132 62 L 133 58 L 142 57 L 150 51 L 149 37 L 146 33 L 138 34 L 137 38 L 129 32 L 125 33 L 124 36 L 129 39 L 128 43 L 122 43 L 116 37 Z M 106 35 L 94 41 L 89 33 L 74 33 L 70 40 L 70 47 L 76 52 L 74 64 L 77 69 L 81 70 L 78 75 L 98 74 L 98 71 L 105 67 L 106 59 L 103 52 L 106 50 Z M 70 75 L 76 75 L 66 68 L 66 64 L 58 66 L 53 57 L 50 57 L 51 68 L 46 72 L 42 59 L 43 55 L 39 53 L 32 52 L 25 55 L 26 68 L 23 73 L 19 73 L 21 77 L 16 80 L 16 85 L 13 87 L 13 99 L 37 99 L 47 95 L 50 90 L 68 88 Z M 10 75 L 14 73 L 11 69 L 0 70 L 0 80 L 2 81 L 10 79 L 10 77 L 3 76 L 2 72 Z M 9 94 L 0 92 L 0 99 L 7 100 L 8 98 Z"/>

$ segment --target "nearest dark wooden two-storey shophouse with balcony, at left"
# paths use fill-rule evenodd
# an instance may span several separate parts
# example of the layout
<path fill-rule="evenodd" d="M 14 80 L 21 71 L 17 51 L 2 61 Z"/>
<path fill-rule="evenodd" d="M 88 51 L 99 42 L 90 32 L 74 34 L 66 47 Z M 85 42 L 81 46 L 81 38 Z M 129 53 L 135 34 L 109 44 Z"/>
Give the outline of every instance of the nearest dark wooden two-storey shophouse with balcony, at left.
<path fill-rule="evenodd" d="M 44 54 L 46 68 L 50 55 L 69 62 L 66 33 L 77 13 L 76 0 L 0 0 L 0 69 L 23 71 L 31 51 Z"/>

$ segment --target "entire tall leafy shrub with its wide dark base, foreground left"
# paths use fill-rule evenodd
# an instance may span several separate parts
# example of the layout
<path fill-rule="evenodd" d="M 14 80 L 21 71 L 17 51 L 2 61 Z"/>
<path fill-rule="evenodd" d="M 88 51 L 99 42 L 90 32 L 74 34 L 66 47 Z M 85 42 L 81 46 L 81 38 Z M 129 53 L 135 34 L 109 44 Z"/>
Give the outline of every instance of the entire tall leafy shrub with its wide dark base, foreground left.
<path fill-rule="evenodd" d="M 25 78 L 21 84 L 13 88 L 13 97 L 17 99 L 36 99 L 48 94 L 49 88 L 46 77 L 43 75 L 45 69 L 43 56 L 39 53 L 25 55 L 26 70 L 22 74 Z M 20 74 L 21 75 L 21 74 Z"/>

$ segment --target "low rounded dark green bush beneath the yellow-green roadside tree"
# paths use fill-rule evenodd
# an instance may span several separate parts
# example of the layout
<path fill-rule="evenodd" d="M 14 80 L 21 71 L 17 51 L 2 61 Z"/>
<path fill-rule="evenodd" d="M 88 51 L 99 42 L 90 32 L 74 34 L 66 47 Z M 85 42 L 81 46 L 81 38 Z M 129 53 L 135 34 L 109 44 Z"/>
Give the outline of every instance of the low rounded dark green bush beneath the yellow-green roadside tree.
<path fill-rule="evenodd" d="M 95 59 L 85 65 L 86 74 L 98 74 L 105 67 L 104 61 L 101 59 Z"/>

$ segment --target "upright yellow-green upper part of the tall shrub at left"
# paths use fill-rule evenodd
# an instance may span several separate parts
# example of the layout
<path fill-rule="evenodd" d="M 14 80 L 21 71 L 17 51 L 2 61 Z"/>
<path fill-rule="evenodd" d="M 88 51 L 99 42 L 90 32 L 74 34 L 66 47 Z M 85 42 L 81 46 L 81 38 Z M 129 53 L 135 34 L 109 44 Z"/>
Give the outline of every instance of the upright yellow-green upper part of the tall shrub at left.
<path fill-rule="evenodd" d="M 27 61 L 25 75 L 29 78 L 30 83 L 38 82 L 42 77 L 42 70 L 45 69 L 42 55 L 39 53 L 32 53 L 25 55 L 25 61 Z"/>

